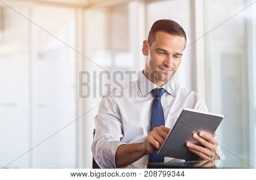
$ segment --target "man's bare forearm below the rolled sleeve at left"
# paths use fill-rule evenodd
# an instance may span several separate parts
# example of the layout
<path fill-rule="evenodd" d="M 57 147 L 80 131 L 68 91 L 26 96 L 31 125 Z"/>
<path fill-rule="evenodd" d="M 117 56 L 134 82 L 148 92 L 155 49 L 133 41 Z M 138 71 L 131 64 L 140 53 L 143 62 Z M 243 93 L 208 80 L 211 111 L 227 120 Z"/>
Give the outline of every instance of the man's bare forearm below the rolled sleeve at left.
<path fill-rule="evenodd" d="M 143 143 L 120 145 L 115 153 L 115 166 L 117 166 L 117 168 L 128 166 L 146 155 L 143 152 L 142 144 Z"/>

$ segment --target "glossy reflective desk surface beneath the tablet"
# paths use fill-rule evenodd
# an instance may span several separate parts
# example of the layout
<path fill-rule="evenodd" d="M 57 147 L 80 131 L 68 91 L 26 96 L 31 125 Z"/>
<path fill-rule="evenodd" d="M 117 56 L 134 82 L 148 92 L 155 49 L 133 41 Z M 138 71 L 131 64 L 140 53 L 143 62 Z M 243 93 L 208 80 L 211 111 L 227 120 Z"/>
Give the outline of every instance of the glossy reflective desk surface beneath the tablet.
<path fill-rule="evenodd" d="M 249 161 L 234 160 L 217 160 L 217 161 L 186 161 L 186 162 L 162 162 L 149 163 L 150 169 L 163 168 L 254 168 Z"/>

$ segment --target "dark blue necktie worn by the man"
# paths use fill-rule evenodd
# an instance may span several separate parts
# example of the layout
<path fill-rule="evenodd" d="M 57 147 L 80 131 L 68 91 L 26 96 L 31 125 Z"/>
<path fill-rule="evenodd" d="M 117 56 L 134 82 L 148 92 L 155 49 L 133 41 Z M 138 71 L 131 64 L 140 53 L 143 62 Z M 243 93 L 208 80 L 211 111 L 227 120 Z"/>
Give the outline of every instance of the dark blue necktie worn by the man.
<path fill-rule="evenodd" d="M 152 90 L 155 98 L 152 105 L 150 131 L 152 131 L 154 127 L 165 125 L 163 107 L 161 104 L 161 97 L 163 96 L 164 92 L 166 92 L 166 90 L 163 88 L 156 88 Z M 148 162 L 164 162 L 164 156 L 158 156 L 158 151 L 154 151 L 149 155 Z"/>

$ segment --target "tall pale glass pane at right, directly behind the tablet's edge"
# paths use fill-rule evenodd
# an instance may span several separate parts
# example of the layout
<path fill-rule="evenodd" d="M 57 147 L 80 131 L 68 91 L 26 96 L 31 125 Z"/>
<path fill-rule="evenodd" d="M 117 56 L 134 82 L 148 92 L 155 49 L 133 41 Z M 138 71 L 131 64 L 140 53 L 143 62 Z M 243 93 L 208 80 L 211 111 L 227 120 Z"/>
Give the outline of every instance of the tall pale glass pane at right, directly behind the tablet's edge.
<path fill-rule="evenodd" d="M 218 129 L 218 143 L 226 158 L 249 158 L 247 114 L 247 58 L 245 1 L 208 1 L 210 110 L 225 115 Z M 233 18 L 221 24 L 229 17 Z M 221 25 L 219 25 L 221 24 Z M 217 28 L 215 28 L 217 27 Z M 236 29 L 234 31 L 234 29 Z"/>

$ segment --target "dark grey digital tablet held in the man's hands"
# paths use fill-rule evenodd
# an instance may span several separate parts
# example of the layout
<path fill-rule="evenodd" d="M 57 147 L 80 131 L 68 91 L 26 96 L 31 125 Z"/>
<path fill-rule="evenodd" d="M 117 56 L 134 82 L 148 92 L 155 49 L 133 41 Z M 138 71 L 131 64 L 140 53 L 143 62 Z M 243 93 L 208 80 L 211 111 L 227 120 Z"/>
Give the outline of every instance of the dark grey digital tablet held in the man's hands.
<path fill-rule="evenodd" d="M 204 131 L 213 134 L 223 118 L 224 115 L 221 114 L 205 113 L 199 110 L 185 108 L 164 140 L 158 151 L 158 155 L 187 161 L 198 160 L 199 157 L 189 151 L 185 143 L 191 142 L 200 145 L 192 137 L 193 132 L 198 134 L 200 131 Z"/>

